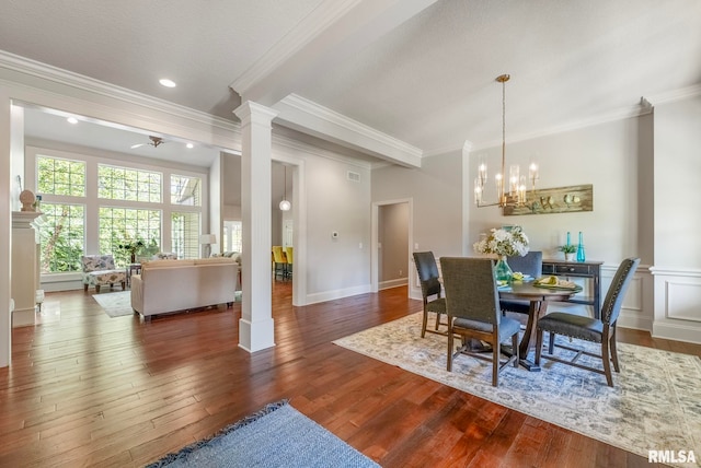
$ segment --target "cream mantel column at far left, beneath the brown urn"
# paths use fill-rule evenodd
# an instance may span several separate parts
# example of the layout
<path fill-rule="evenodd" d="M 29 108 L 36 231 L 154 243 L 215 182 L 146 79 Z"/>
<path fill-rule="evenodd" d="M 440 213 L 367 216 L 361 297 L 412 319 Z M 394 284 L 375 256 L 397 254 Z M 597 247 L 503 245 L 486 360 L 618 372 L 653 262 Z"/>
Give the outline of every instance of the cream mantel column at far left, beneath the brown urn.
<path fill-rule="evenodd" d="M 38 259 L 36 257 L 36 232 L 32 223 L 41 214 L 36 211 L 12 212 L 13 328 L 35 323 Z"/>

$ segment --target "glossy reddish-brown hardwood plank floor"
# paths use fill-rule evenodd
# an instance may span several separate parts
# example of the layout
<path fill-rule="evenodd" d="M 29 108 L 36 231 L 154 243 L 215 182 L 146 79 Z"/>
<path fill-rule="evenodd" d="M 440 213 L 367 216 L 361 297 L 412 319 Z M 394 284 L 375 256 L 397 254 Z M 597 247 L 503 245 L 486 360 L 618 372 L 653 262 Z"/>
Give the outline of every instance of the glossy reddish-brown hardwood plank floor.
<path fill-rule="evenodd" d="M 0 466 L 143 466 L 283 398 L 383 467 L 651 466 L 331 343 L 421 311 L 406 288 L 292 307 L 275 282 L 276 347 L 253 354 L 238 348 L 240 304 L 145 323 L 90 294 L 49 293 L 42 324 L 13 329 Z M 619 341 L 701 355 L 641 331 Z"/>

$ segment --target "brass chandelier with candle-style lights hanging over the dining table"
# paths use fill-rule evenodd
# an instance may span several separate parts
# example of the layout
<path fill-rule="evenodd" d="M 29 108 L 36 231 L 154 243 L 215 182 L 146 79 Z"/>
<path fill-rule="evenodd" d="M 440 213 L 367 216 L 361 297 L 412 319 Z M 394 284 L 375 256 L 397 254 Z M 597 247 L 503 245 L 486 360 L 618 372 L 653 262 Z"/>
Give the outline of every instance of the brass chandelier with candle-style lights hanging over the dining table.
<path fill-rule="evenodd" d="M 474 203 L 482 207 L 517 207 L 522 206 L 527 201 L 526 197 L 526 175 L 521 175 L 520 167 L 510 165 L 508 168 L 508 186 L 505 186 L 506 176 L 506 82 L 512 77 L 501 74 L 496 77 L 496 81 L 502 83 L 502 171 L 494 176 L 496 186 L 497 201 L 485 202 L 483 199 L 484 189 L 487 178 L 487 168 L 484 161 L 480 162 L 478 167 L 478 176 L 474 179 Z M 531 191 L 536 190 L 536 180 L 538 180 L 538 165 L 531 163 L 528 167 L 528 182 L 531 185 Z"/>

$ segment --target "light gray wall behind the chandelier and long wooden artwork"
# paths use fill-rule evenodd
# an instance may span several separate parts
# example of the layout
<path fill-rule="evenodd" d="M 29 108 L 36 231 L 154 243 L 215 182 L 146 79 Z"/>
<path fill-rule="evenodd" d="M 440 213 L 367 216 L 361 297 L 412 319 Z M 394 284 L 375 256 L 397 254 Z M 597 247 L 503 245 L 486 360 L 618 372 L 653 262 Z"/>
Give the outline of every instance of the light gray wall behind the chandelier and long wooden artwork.
<path fill-rule="evenodd" d="M 528 167 L 540 166 L 538 187 L 594 185 L 594 211 L 578 213 L 503 217 L 498 208 L 468 207 L 469 251 L 480 233 L 502 224 L 521 225 L 531 249 L 561 258 L 556 250 L 566 232 L 584 233 L 586 257 L 618 265 L 640 256 L 652 265 L 652 117 L 650 115 L 596 125 L 578 130 L 507 143 L 506 160 Z M 486 157 L 491 175 L 497 172 L 501 147 L 473 151 L 469 156 L 469 180 L 476 175 L 480 157 Z M 471 188 L 471 187 L 470 187 Z"/>

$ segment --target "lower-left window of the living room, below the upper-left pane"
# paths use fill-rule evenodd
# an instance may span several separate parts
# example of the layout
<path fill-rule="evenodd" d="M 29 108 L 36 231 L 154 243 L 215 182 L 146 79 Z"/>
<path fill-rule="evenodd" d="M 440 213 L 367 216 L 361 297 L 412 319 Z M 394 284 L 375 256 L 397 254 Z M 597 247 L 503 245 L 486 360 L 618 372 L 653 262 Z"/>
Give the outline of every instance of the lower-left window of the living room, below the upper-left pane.
<path fill-rule="evenodd" d="M 81 271 L 85 236 L 85 207 L 43 203 L 39 231 L 42 273 Z"/>

